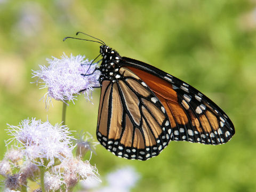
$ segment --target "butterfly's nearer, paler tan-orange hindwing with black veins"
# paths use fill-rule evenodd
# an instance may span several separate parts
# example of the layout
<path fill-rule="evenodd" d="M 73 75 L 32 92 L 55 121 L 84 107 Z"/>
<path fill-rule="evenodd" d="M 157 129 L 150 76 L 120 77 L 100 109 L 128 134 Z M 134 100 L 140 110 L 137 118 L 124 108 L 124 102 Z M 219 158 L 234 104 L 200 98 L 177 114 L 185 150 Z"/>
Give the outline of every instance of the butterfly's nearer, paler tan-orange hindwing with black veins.
<path fill-rule="evenodd" d="M 145 82 L 122 67 L 117 81 L 103 81 L 97 138 L 119 157 L 146 160 L 171 139 L 168 115 Z"/>

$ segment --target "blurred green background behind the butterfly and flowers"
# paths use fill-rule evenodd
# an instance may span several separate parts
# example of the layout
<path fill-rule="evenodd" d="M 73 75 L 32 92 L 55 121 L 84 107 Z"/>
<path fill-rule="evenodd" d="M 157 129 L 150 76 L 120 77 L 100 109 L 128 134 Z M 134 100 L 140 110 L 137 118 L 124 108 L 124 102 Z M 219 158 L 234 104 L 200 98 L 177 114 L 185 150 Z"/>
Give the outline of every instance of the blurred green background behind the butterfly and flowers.
<path fill-rule="evenodd" d="M 60 102 L 47 111 L 46 90 L 30 82 L 31 69 L 63 52 L 94 59 L 99 44 L 68 39 L 96 36 L 122 56 L 154 65 L 196 87 L 233 121 L 226 145 L 171 142 L 146 162 L 129 161 L 97 146 L 91 164 L 100 175 L 134 166 L 132 191 L 256 191 L 256 2 L 254 0 L 11 1 L 0 0 L 0 151 L 6 123 L 27 117 L 61 121 Z M 81 37 L 85 37 L 82 36 Z M 100 90 L 93 103 L 79 97 L 67 109 L 71 130 L 95 137 Z"/>

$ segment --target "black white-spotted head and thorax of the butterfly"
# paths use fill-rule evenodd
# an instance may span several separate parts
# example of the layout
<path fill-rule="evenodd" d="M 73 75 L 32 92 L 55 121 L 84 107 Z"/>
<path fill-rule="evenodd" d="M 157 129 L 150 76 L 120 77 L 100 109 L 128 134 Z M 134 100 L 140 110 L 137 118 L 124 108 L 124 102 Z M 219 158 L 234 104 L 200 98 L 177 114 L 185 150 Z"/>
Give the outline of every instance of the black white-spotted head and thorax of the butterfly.
<path fill-rule="evenodd" d="M 106 45 L 100 46 L 100 53 L 102 56 L 101 66 L 99 68 L 100 75 L 100 84 L 103 81 L 112 81 L 115 82 L 118 78 L 121 78 L 122 74 L 119 73 L 120 65 L 119 61 L 122 57 L 115 50 L 112 50 Z"/>

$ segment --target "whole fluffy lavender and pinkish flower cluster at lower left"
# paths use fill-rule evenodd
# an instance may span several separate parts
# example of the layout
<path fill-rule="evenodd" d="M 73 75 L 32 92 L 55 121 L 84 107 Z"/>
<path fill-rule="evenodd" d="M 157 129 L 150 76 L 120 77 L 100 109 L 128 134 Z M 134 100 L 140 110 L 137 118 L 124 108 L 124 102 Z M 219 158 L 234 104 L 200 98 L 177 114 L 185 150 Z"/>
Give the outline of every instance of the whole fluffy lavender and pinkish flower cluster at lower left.
<path fill-rule="evenodd" d="M 9 125 L 7 132 L 12 136 L 9 144 L 15 141 L 15 145 L 0 162 L 6 192 L 23 191 L 27 179 L 37 182 L 42 173 L 45 191 L 72 191 L 79 181 L 86 179 L 100 182 L 97 168 L 81 160 L 84 154 L 73 156 L 75 139 L 67 126 L 32 118 L 23 120 L 18 126 Z M 80 142 L 87 143 L 82 138 Z"/>

